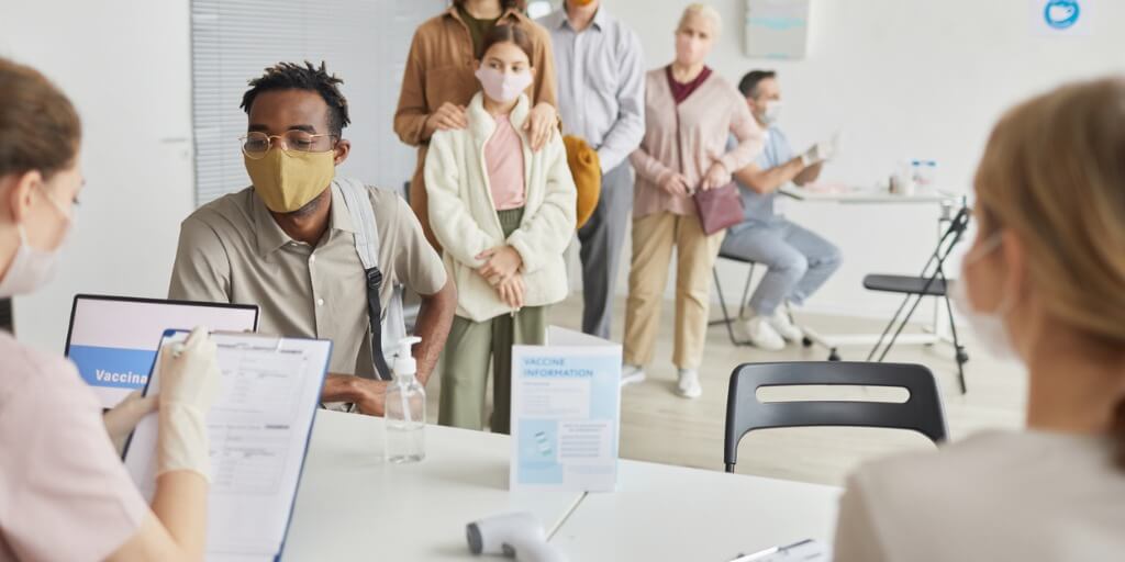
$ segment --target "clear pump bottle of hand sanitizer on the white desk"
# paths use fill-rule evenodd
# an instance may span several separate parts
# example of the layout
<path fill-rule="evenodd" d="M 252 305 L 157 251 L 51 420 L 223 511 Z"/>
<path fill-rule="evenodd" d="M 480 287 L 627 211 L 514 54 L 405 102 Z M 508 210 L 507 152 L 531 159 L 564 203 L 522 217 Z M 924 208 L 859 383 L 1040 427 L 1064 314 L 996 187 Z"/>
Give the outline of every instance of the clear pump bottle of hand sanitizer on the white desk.
<path fill-rule="evenodd" d="M 387 462 L 407 464 L 425 459 L 425 389 L 417 379 L 417 363 L 411 347 L 420 337 L 398 341 L 395 380 L 387 386 L 385 408 Z"/>

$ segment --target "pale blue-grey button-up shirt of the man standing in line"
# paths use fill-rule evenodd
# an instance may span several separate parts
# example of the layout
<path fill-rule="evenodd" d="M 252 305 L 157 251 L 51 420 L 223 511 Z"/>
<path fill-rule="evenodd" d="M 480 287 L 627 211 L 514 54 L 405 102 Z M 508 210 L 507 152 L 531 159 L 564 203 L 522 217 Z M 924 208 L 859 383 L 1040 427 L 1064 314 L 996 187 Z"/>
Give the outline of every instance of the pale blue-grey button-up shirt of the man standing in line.
<path fill-rule="evenodd" d="M 562 133 L 584 138 L 609 172 L 645 136 L 640 38 L 604 7 L 582 33 L 570 27 L 565 6 L 538 21 L 551 35 Z"/>

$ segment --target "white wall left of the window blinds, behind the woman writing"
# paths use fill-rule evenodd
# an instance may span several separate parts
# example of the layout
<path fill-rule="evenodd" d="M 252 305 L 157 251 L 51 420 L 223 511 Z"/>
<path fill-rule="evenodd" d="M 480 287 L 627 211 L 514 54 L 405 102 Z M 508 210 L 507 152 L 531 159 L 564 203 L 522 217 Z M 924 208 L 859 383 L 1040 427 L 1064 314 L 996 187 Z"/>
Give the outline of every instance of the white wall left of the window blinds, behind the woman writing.
<path fill-rule="evenodd" d="M 19 338 L 61 353 L 75 292 L 168 293 L 192 208 L 188 2 L 2 3 L 0 56 L 43 71 L 82 117 L 87 184 L 61 268 L 15 303 Z"/>

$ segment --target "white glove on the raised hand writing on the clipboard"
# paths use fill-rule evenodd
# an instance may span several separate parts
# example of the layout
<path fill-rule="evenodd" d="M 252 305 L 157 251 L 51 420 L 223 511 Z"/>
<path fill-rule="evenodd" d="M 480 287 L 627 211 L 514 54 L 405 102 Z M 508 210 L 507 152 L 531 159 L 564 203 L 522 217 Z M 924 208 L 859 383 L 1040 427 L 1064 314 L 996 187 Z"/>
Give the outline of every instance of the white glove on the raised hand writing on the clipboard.
<path fill-rule="evenodd" d="M 160 434 L 156 475 L 191 470 L 210 481 L 207 411 L 218 395 L 215 342 L 196 328 L 182 343 L 160 352 Z"/>

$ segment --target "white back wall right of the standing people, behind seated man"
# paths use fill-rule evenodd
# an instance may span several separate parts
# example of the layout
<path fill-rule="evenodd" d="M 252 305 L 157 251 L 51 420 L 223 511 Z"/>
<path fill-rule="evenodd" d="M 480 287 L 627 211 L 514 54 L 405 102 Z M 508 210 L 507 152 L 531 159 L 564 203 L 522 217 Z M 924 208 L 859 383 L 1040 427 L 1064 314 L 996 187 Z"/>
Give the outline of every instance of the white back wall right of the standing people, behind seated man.
<path fill-rule="evenodd" d="M 672 61 L 688 2 L 603 2 L 640 34 L 649 67 Z M 1125 2 L 1113 0 L 1088 2 L 1094 35 L 1070 39 L 1033 36 L 1028 0 L 812 0 L 809 56 L 784 63 L 744 56 L 744 0 L 711 3 L 724 25 L 709 64 L 734 83 L 756 67 L 780 71 L 781 125 L 795 149 L 843 130 L 827 180 L 868 184 L 897 160 L 925 157 L 938 161 L 946 189 L 964 192 L 1005 108 L 1065 80 L 1125 72 Z M 898 299 L 863 290 L 863 275 L 915 273 L 936 241 L 936 207 L 791 202 L 786 211 L 845 253 L 810 309 L 889 316 Z M 721 272 L 730 292 L 741 287 L 744 269 Z"/>

